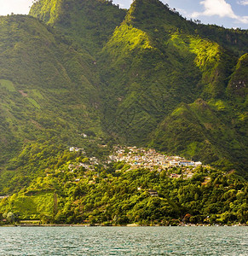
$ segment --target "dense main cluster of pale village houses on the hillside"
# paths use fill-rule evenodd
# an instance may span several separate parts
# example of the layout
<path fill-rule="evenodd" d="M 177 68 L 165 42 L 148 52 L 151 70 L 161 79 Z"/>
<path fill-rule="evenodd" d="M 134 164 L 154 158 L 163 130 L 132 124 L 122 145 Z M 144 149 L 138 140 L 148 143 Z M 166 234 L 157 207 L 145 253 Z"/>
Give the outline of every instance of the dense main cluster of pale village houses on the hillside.
<path fill-rule="evenodd" d="M 158 168 L 159 170 L 178 166 L 192 166 L 193 168 L 201 166 L 202 163 L 193 160 L 186 160 L 180 156 L 167 156 L 159 154 L 154 149 L 128 147 L 116 147 L 114 154 L 109 155 L 108 163 L 112 161 L 125 161 L 131 168 Z"/>

